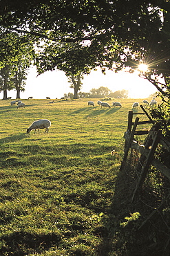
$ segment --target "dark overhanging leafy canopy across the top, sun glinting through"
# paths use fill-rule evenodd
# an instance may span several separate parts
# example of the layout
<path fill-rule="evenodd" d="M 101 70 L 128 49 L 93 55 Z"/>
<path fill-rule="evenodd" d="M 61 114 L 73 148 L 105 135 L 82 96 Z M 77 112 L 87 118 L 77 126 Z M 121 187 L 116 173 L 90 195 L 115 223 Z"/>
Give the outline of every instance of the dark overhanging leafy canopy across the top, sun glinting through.
<path fill-rule="evenodd" d="M 96 66 L 117 71 L 144 62 L 149 72 L 142 75 L 164 95 L 169 91 L 169 10 L 167 0 L 6 0 L 1 1 L 1 37 L 15 31 L 39 42 L 43 48 L 34 58 L 39 73 L 55 68 L 68 75 L 89 73 Z"/>

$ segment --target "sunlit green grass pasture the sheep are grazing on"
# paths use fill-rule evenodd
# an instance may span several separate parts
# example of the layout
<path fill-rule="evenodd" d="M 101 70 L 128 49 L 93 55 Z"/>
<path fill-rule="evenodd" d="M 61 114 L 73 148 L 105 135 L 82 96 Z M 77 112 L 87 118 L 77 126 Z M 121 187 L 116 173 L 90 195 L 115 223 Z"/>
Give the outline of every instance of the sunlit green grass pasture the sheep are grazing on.
<path fill-rule="evenodd" d="M 22 101 L 0 101 L 0 255 L 126 255 L 129 190 L 118 175 L 134 100 L 111 109 L 96 99 Z M 26 134 L 43 118 L 48 134 Z"/>

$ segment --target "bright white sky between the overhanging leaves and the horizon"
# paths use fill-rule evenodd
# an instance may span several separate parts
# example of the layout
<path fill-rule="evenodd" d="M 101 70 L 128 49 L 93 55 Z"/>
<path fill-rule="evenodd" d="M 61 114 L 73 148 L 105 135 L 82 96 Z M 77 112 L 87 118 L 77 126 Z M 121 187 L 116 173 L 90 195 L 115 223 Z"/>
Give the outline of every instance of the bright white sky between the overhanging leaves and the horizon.
<path fill-rule="evenodd" d="M 33 97 L 34 99 L 60 99 L 64 93 L 74 93 L 70 88 L 67 77 L 63 71 L 47 71 L 37 76 L 36 68 L 30 68 L 28 78 L 25 81 L 25 91 L 21 92 L 21 99 Z M 126 73 L 125 71 L 106 71 L 106 75 L 98 69 L 91 71 L 89 75 L 84 76 L 82 92 L 89 92 L 91 89 L 104 86 L 112 92 L 118 90 L 129 91 L 129 98 L 148 98 L 150 94 L 156 92 L 155 86 L 138 76 L 138 73 Z M 17 91 L 8 91 L 8 97 L 16 98 Z M 0 93 L 0 99 L 3 98 L 3 92 Z"/>

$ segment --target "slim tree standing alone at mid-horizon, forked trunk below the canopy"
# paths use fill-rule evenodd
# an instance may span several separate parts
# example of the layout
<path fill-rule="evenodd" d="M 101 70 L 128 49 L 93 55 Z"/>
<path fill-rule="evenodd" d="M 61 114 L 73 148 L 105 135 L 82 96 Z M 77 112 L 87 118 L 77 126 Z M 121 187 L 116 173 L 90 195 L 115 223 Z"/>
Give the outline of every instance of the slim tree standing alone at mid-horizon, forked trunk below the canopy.
<path fill-rule="evenodd" d="M 68 82 L 70 82 L 70 88 L 74 89 L 74 99 L 78 98 L 78 91 L 81 89 L 83 75 L 78 73 L 77 75 L 70 75 L 68 77 Z"/>

